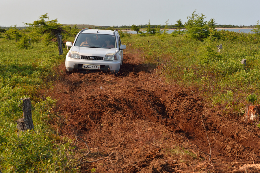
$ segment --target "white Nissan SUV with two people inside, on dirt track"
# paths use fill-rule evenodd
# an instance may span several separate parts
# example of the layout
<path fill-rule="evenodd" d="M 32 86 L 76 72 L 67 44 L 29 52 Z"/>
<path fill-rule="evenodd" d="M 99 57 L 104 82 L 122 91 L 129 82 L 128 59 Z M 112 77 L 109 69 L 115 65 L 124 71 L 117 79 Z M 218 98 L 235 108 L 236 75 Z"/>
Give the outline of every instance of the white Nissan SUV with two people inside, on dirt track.
<path fill-rule="evenodd" d="M 66 55 L 68 72 L 112 72 L 117 74 L 123 63 L 123 49 L 118 31 L 82 29 L 75 41 L 66 42 L 70 51 Z"/>

